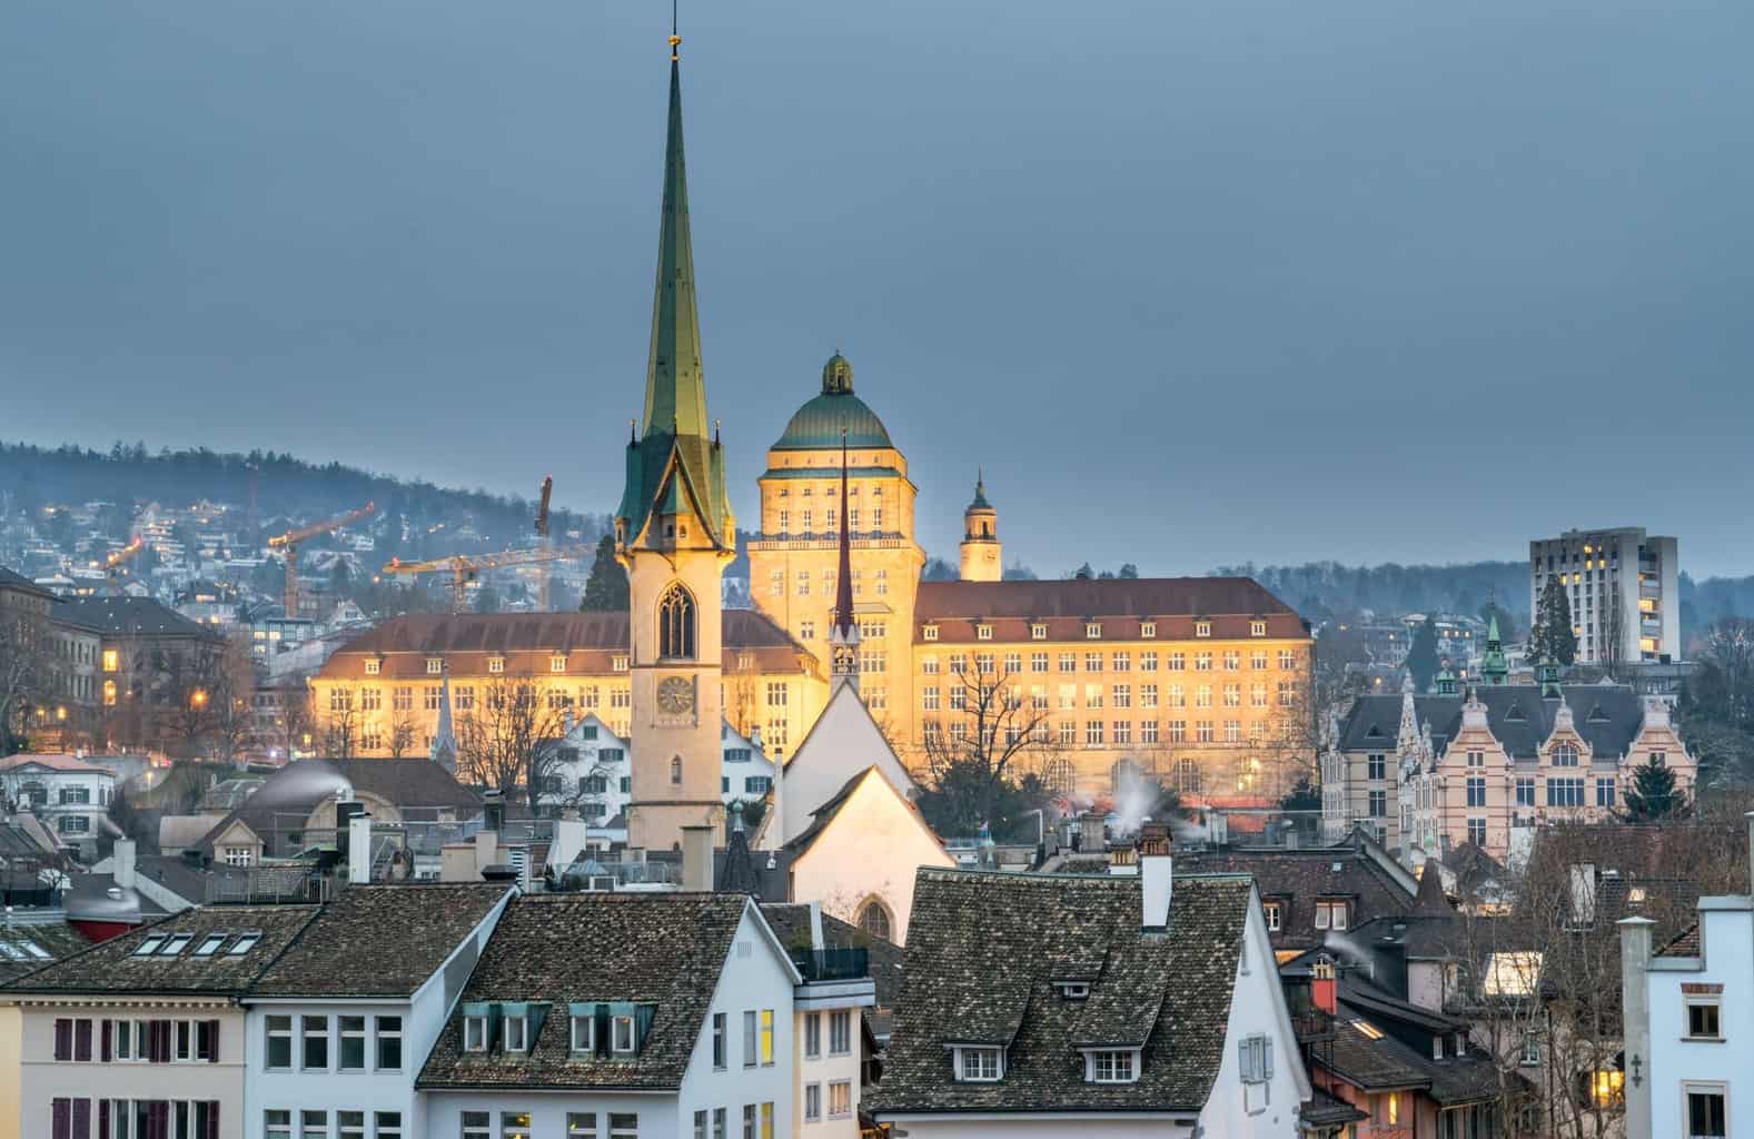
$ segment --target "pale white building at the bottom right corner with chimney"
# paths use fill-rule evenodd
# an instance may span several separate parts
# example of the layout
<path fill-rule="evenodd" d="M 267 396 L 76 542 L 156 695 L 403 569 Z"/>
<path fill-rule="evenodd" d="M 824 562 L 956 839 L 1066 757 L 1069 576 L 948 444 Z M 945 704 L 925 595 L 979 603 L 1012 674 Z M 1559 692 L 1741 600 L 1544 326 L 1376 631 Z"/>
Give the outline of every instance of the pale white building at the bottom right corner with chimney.
<path fill-rule="evenodd" d="M 1619 923 L 1626 1139 L 1754 1135 L 1754 893 L 1698 911 L 1654 955 L 1649 918 Z"/>

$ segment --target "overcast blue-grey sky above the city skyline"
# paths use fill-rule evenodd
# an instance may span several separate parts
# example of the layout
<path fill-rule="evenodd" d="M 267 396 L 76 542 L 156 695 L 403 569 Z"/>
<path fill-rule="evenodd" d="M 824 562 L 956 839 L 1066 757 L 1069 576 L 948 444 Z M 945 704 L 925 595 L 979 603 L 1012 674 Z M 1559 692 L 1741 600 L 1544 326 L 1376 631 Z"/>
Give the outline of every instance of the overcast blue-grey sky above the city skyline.
<path fill-rule="evenodd" d="M 0 437 L 607 511 L 661 0 L 5 0 Z M 954 555 L 1754 572 L 1754 4 L 684 0 L 738 511 L 842 347 Z"/>

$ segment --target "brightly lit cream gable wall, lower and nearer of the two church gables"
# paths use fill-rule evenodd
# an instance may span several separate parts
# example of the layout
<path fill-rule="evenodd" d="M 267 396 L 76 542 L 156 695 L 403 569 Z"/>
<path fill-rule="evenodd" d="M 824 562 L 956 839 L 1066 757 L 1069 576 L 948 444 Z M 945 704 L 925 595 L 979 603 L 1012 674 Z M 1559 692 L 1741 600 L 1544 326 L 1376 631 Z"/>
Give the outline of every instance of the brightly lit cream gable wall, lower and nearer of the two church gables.
<path fill-rule="evenodd" d="M 786 795 L 791 795 L 789 783 Z M 824 913 L 845 921 L 858 921 L 865 902 L 881 899 L 889 909 L 889 939 L 907 944 L 914 872 L 923 865 L 954 867 L 956 862 L 919 813 L 902 802 L 881 774 L 872 774 L 793 862 L 791 899 L 819 902 Z"/>

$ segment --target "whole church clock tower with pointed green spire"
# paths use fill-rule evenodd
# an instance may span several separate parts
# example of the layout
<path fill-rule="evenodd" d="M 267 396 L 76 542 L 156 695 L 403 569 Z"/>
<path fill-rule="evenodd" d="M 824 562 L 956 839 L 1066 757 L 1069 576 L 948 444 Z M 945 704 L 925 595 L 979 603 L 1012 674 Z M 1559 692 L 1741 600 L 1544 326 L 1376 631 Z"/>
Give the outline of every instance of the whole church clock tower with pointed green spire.
<path fill-rule="evenodd" d="M 616 511 L 616 558 L 628 570 L 631 609 L 628 846 L 642 849 L 677 848 L 684 827 L 717 827 L 723 818 L 719 577 L 737 542 L 724 451 L 716 432 L 707 433 L 677 44 L 672 35 L 645 414 L 628 442 L 626 490 Z"/>

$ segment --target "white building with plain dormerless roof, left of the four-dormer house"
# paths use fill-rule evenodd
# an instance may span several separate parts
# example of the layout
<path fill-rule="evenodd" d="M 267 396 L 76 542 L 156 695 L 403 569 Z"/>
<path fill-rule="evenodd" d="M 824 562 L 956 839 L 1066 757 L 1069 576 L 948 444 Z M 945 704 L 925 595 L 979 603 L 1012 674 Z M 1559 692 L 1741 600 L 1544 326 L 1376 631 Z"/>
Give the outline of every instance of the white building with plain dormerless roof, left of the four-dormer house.
<path fill-rule="evenodd" d="M 251 985 L 246 1139 L 416 1139 L 414 1074 L 512 892 L 349 886 Z"/>

